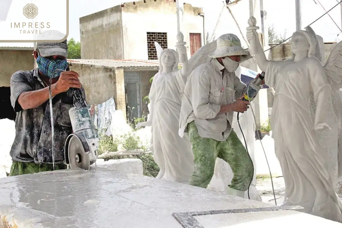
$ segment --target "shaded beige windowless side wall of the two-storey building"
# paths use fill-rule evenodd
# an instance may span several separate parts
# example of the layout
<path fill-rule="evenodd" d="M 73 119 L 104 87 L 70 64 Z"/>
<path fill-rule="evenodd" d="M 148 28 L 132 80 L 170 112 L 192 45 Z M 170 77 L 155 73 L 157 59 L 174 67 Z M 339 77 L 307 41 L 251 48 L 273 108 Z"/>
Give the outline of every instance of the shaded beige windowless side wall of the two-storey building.
<path fill-rule="evenodd" d="M 80 18 L 82 59 L 123 59 L 121 7 Z"/>

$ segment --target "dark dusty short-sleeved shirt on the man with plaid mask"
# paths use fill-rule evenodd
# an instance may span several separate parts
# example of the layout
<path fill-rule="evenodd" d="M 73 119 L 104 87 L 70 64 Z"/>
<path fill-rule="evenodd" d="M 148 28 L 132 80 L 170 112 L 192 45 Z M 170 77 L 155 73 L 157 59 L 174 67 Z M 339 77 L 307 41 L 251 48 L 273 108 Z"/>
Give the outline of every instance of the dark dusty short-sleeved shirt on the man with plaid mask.
<path fill-rule="evenodd" d="M 17 71 L 11 77 L 11 103 L 17 112 L 15 138 L 10 155 L 13 161 L 52 163 L 51 118 L 49 100 L 37 108 L 23 110 L 18 97 L 23 92 L 45 88 L 39 78 L 38 68 L 31 71 Z M 82 92 L 85 97 L 84 89 Z M 69 109 L 74 105 L 73 92 L 57 94 L 52 98 L 54 117 L 54 160 L 63 163 L 64 144 L 72 132 Z"/>

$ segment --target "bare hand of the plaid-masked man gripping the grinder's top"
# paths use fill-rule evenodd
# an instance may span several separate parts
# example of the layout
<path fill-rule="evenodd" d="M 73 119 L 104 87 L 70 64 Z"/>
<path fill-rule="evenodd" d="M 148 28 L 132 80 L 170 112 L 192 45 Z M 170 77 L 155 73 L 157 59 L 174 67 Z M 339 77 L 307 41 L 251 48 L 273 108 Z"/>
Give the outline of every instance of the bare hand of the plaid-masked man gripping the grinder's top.
<path fill-rule="evenodd" d="M 63 93 L 68 91 L 69 88 L 81 88 L 79 77 L 75 71 L 63 71 L 55 84 L 56 92 Z"/>

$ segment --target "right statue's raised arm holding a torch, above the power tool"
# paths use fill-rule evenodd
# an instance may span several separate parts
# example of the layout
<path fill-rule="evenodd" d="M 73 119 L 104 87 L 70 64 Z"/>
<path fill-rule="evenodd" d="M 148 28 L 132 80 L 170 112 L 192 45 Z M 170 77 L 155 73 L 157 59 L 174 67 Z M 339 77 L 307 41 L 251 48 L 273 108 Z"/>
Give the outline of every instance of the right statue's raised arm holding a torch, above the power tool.
<path fill-rule="evenodd" d="M 257 33 L 257 29 L 259 29 L 259 27 L 257 27 L 256 24 L 257 20 L 254 17 L 250 17 L 248 20 L 249 27 L 247 27 L 247 40 L 250 45 L 251 54 L 254 55 L 259 68 L 262 71 L 266 71 L 268 60 L 264 53 L 264 49 L 260 44 L 259 35 Z"/>

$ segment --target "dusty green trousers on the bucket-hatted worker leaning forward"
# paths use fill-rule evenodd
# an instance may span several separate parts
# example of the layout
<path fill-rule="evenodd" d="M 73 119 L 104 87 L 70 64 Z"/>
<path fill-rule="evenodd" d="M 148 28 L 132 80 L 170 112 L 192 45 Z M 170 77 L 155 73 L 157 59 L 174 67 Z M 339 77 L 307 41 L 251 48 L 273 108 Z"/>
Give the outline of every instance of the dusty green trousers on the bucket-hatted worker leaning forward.
<path fill-rule="evenodd" d="M 188 134 L 195 157 L 195 170 L 190 178 L 190 185 L 206 188 L 214 175 L 216 158 L 221 158 L 233 171 L 234 176 L 229 187 L 240 191 L 248 190 L 254 173 L 253 164 L 234 131 L 223 142 L 202 138 L 193 121 L 188 124 Z"/>

